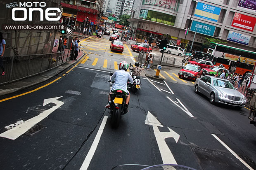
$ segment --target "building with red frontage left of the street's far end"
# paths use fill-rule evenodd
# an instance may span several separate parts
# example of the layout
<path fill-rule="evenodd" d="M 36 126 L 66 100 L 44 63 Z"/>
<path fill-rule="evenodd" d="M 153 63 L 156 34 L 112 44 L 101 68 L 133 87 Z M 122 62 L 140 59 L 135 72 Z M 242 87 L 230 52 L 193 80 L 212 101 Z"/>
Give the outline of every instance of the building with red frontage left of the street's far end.
<path fill-rule="evenodd" d="M 62 0 L 62 19 L 68 18 L 75 21 L 75 25 L 80 27 L 87 17 L 93 25 L 100 23 L 104 0 Z M 83 26 L 82 26 L 83 27 Z"/>

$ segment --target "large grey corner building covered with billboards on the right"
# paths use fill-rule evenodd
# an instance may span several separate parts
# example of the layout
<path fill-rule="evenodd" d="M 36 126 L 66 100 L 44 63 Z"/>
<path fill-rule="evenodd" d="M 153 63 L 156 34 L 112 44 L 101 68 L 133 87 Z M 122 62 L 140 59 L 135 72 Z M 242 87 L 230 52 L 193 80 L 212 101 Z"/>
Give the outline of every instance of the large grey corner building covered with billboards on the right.
<path fill-rule="evenodd" d="M 156 39 L 168 34 L 170 44 L 206 51 L 205 37 L 255 51 L 256 6 L 243 0 L 135 0 L 131 27 L 138 41 L 152 33 Z M 188 35 L 185 29 L 189 28 Z M 134 31 L 134 32 L 135 32 Z"/>

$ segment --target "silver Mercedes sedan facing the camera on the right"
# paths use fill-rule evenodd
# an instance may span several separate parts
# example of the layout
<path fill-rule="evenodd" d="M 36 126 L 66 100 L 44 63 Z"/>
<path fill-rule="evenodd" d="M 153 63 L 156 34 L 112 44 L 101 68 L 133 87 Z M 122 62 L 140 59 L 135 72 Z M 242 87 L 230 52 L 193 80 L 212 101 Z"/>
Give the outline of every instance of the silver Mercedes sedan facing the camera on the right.
<path fill-rule="evenodd" d="M 204 76 L 194 83 L 194 92 L 209 97 L 210 103 L 223 103 L 241 109 L 246 104 L 246 97 L 237 91 L 233 84 L 219 77 Z"/>

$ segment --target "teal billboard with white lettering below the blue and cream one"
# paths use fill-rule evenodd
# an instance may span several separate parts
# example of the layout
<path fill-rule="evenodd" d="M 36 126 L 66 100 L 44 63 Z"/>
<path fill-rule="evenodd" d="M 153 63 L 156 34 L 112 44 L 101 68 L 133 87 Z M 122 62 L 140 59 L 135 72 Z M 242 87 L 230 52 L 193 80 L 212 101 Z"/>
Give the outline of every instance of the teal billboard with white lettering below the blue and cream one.
<path fill-rule="evenodd" d="M 190 30 L 192 31 L 197 30 L 197 33 L 213 36 L 215 28 L 216 28 L 215 26 L 211 26 L 206 23 L 193 21 Z"/>

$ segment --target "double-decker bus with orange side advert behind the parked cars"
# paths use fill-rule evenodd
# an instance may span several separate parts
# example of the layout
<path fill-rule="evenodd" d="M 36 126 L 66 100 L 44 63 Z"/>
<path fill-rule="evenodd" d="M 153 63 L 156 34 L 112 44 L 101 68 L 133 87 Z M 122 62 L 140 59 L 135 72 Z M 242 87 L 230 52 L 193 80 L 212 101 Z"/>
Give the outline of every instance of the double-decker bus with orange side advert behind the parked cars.
<path fill-rule="evenodd" d="M 212 63 L 214 65 L 222 64 L 226 69 L 238 74 L 251 72 L 256 63 L 256 52 L 215 42 L 211 42 L 207 53 L 213 55 Z M 237 63 L 237 60 L 240 62 Z"/>

